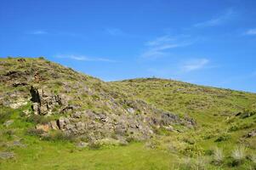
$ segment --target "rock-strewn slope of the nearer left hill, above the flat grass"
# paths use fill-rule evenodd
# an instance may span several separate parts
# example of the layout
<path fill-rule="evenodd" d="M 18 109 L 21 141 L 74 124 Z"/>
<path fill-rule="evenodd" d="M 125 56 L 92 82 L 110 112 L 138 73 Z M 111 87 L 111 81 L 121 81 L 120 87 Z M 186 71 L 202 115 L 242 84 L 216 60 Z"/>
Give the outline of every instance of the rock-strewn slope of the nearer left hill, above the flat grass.
<path fill-rule="evenodd" d="M 157 129 L 174 131 L 174 125 L 196 126 L 142 99 L 131 97 L 94 77 L 45 59 L 0 59 L 0 105 L 29 105 L 26 116 L 52 117 L 37 124 L 47 135 L 62 131 L 88 140 L 144 140 Z"/>

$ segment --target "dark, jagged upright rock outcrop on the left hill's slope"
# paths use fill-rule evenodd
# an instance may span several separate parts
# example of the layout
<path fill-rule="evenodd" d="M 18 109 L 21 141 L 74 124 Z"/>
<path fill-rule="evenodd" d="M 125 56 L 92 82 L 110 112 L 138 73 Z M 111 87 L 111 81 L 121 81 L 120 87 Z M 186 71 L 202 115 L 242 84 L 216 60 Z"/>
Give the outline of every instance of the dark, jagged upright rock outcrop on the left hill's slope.
<path fill-rule="evenodd" d="M 62 105 L 60 95 L 46 93 L 43 89 L 31 86 L 32 110 L 36 115 L 51 115 L 54 108 Z"/>

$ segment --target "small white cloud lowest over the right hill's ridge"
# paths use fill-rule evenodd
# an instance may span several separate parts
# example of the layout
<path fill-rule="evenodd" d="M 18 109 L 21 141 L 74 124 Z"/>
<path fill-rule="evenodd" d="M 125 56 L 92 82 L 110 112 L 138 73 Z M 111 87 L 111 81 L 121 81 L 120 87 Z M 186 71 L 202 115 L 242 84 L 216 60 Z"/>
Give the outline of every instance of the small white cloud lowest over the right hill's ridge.
<path fill-rule="evenodd" d="M 208 63 L 208 59 L 191 59 L 181 66 L 181 70 L 185 72 L 200 70 L 205 68 Z"/>

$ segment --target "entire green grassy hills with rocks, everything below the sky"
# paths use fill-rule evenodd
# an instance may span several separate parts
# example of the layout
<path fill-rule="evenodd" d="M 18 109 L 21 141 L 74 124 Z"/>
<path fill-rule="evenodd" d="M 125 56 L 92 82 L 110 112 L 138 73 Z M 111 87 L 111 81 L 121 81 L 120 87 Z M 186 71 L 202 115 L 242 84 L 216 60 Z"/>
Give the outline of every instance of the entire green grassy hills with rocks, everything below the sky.
<path fill-rule="evenodd" d="M 0 59 L 0 169 L 255 169 L 256 94 Z"/>

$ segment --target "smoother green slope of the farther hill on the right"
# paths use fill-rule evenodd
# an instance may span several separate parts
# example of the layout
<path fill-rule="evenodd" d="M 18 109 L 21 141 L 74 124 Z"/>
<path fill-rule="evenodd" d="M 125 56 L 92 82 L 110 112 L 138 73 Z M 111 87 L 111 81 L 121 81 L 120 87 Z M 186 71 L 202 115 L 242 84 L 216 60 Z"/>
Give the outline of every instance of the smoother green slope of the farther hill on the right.
<path fill-rule="evenodd" d="M 157 108 L 175 111 L 179 116 L 190 116 L 196 120 L 196 129 L 164 135 L 151 143 L 154 147 L 164 150 L 171 147 L 174 152 L 192 157 L 205 156 L 207 159 L 209 153 L 214 156 L 214 150 L 218 147 L 218 150 L 224 151 L 221 152 L 221 165 L 227 169 L 238 168 L 231 161 L 237 147 L 247 148 L 248 155 L 246 151 L 240 151 L 249 160 L 255 153 L 256 94 L 158 78 L 110 83 L 113 88 L 144 99 Z M 250 168 L 254 167 L 247 162 L 238 169 Z"/>

